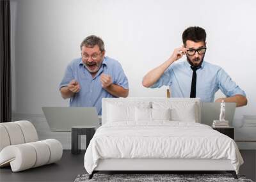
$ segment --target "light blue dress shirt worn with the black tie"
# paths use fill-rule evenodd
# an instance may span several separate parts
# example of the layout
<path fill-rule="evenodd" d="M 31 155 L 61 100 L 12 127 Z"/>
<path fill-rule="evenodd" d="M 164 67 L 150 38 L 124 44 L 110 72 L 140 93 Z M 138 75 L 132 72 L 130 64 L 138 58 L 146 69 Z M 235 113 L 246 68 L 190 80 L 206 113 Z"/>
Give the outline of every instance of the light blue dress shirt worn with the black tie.
<path fill-rule="evenodd" d="M 188 61 L 171 64 L 151 88 L 170 86 L 172 97 L 189 98 L 193 74 L 190 66 Z M 200 98 L 202 102 L 214 102 L 214 95 L 219 89 L 227 97 L 246 96 L 220 66 L 205 61 L 201 66 L 196 70 L 196 98 Z"/>

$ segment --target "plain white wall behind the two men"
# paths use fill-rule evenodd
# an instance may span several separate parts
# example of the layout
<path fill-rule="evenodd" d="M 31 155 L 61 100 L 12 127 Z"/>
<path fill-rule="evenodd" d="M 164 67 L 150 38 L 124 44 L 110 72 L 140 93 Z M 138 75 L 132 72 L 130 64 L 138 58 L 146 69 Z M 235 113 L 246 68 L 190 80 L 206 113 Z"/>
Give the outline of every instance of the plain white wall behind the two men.
<path fill-rule="evenodd" d="M 207 32 L 205 61 L 222 66 L 246 91 L 256 109 L 256 1 L 12 0 L 13 112 L 42 114 L 42 106 L 66 106 L 58 91 L 67 64 L 79 57 L 90 34 L 100 36 L 106 55 L 120 61 L 129 96 L 166 96 L 166 87 L 141 85 L 148 70 L 182 45 L 186 27 Z M 221 95 L 218 93 L 218 95 Z"/>

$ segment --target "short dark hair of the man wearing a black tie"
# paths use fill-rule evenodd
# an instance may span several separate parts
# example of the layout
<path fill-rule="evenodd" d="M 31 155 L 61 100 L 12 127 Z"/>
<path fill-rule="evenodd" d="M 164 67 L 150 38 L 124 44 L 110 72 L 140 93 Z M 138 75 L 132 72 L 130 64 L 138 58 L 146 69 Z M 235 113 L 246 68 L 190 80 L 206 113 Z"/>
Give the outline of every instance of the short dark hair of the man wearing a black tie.
<path fill-rule="evenodd" d="M 193 42 L 205 42 L 205 30 L 201 27 L 188 27 L 182 33 L 182 42 L 184 45 L 186 45 L 187 40 L 192 40 Z"/>

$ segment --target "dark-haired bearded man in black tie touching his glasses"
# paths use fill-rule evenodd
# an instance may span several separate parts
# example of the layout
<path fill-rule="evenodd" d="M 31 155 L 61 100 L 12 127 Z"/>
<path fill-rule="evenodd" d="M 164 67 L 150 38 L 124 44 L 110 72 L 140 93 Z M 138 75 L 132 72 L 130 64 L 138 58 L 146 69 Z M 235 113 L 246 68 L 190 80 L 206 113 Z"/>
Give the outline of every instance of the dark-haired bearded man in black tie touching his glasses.
<path fill-rule="evenodd" d="M 237 107 L 247 104 L 244 91 L 220 67 L 204 61 L 206 33 L 201 27 L 188 27 L 182 34 L 182 47 L 143 78 L 145 87 L 170 86 L 172 97 L 200 98 L 202 102 L 213 102 L 220 89 L 225 98 L 215 102 L 236 102 Z M 186 55 L 186 61 L 178 61 Z"/>

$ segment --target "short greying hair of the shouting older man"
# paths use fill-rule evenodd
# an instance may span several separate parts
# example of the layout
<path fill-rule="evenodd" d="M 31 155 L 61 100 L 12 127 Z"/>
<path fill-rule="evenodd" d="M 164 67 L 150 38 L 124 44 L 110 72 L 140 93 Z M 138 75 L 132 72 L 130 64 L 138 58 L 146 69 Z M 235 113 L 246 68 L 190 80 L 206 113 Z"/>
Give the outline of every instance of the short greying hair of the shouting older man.
<path fill-rule="evenodd" d="M 100 52 L 104 52 L 104 42 L 99 36 L 90 35 L 86 38 L 84 38 L 83 42 L 81 42 L 80 49 L 82 50 L 82 47 L 94 47 L 95 45 L 98 45 L 100 48 Z"/>

